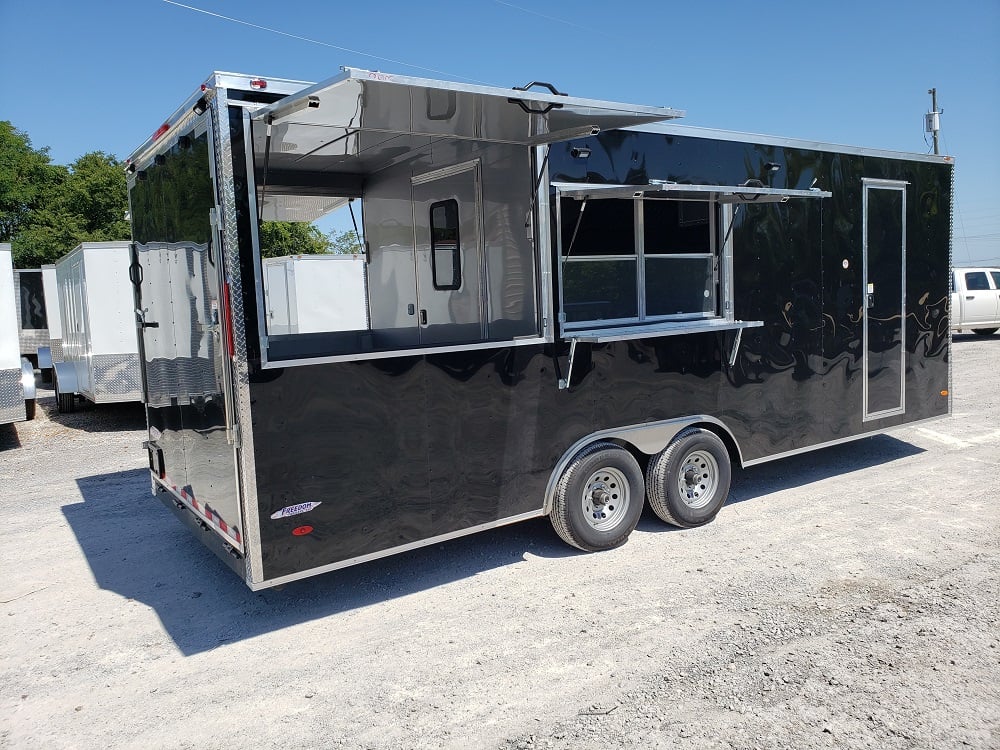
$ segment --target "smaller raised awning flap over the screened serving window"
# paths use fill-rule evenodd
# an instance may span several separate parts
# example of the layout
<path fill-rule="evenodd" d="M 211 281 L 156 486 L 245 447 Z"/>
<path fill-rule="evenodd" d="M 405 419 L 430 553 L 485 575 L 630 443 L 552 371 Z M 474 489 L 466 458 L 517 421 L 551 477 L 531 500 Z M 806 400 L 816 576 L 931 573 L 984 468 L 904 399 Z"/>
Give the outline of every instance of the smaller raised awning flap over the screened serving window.
<path fill-rule="evenodd" d="M 644 198 L 718 203 L 784 203 L 792 198 L 829 198 L 828 190 L 786 190 L 748 185 L 684 185 L 675 182 L 651 182 L 646 185 L 581 185 L 557 182 L 552 185 L 563 198 L 594 200 L 598 198 Z"/>

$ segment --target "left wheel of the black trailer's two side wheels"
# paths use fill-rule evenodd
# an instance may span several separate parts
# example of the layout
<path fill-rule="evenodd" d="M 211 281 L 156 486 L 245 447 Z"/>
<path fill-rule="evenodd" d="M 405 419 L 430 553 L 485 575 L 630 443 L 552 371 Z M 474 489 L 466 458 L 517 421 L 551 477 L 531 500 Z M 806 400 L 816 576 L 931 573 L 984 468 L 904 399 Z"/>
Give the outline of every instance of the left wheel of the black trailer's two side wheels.
<path fill-rule="evenodd" d="M 580 451 L 559 478 L 549 519 L 567 544 L 586 552 L 625 543 L 642 515 L 642 469 L 614 443 Z"/>

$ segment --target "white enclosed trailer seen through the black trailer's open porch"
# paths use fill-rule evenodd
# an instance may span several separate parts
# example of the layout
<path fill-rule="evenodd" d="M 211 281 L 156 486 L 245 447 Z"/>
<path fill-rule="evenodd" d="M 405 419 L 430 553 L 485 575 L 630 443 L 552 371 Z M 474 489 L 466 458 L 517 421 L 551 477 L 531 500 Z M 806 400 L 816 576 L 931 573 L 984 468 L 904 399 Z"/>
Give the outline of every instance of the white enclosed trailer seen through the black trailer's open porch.
<path fill-rule="evenodd" d="M 363 255 L 286 255 L 263 265 L 273 335 L 369 327 Z"/>

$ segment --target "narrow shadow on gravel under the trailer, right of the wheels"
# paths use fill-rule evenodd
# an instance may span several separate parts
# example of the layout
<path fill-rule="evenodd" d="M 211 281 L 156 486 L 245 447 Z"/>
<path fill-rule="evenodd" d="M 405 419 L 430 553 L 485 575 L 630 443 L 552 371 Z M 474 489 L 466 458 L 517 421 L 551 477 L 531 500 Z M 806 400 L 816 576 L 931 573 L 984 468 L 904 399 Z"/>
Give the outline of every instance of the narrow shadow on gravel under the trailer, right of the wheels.
<path fill-rule="evenodd" d="M 751 466 L 734 472 L 727 505 L 802 487 L 838 474 L 870 469 L 923 452 L 923 448 L 891 435 L 875 435 Z"/>

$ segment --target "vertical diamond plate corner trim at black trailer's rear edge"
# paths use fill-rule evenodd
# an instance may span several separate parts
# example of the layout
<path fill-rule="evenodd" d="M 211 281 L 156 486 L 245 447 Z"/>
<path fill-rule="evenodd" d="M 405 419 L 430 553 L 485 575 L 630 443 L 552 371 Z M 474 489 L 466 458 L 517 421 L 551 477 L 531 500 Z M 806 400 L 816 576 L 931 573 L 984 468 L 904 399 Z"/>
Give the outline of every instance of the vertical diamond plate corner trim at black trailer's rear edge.
<path fill-rule="evenodd" d="M 236 187 L 233 178 L 233 143 L 230 135 L 227 96 L 217 92 L 213 100 L 212 124 L 215 143 L 216 178 L 220 200 L 220 234 L 225 256 L 226 280 L 229 285 L 230 312 L 233 322 L 232 358 L 233 401 L 235 422 L 240 428 L 239 482 L 243 494 L 244 548 L 248 584 L 264 579 L 264 564 L 260 549 L 260 519 L 257 504 L 257 466 L 254 460 L 253 428 L 250 417 L 250 372 L 247 367 L 246 315 L 243 309 L 243 279 L 240 276 L 240 244 L 236 218 Z M 244 128 L 246 113 L 244 113 Z M 244 130 L 245 132 L 245 130 Z M 244 188 L 246 189 L 246 188 Z"/>

